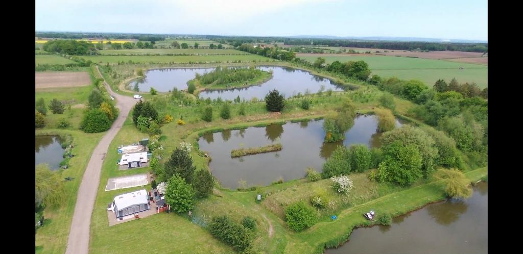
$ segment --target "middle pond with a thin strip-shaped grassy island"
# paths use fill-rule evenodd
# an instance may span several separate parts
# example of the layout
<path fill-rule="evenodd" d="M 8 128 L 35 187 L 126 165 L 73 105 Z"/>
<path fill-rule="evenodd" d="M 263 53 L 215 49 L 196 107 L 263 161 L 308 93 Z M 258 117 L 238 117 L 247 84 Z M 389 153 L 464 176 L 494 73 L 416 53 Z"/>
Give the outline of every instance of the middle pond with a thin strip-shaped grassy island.
<path fill-rule="evenodd" d="M 223 187 L 231 189 L 240 187 L 240 181 L 245 181 L 248 187 L 266 186 L 280 177 L 285 181 L 303 178 L 308 167 L 321 172 L 325 160 L 341 144 L 380 145 L 376 116 L 357 117 L 354 126 L 346 132 L 346 139 L 337 143 L 323 143 L 322 124 L 323 120 L 318 120 L 224 130 L 203 135 L 198 144 L 201 151 L 212 157 L 209 164 L 212 174 Z M 396 125 L 401 123 L 396 121 Z M 281 151 L 231 158 L 232 149 L 278 142 L 283 147 Z"/>

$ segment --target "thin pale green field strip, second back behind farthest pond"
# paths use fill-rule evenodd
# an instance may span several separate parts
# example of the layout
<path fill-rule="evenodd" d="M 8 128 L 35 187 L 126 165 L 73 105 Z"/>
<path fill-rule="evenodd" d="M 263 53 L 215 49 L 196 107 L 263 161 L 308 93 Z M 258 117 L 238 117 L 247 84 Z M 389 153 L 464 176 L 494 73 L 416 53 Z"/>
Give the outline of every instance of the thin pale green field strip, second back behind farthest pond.
<path fill-rule="evenodd" d="M 43 51 L 45 52 L 45 51 Z M 248 55 L 249 53 L 233 49 L 132 49 L 132 50 L 100 50 L 101 55 L 113 54 L 192 54 L 192 55 Z"/>

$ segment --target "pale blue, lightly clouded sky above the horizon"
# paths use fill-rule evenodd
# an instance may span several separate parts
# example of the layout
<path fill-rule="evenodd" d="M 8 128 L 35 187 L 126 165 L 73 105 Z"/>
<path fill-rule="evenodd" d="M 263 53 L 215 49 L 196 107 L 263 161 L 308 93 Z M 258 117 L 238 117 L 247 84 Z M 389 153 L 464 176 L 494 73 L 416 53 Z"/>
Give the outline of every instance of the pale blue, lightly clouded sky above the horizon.
<path fill-rule="evenodd" d="M 36 31 L 487 40 L 486 0 L 36 0 Z"/>

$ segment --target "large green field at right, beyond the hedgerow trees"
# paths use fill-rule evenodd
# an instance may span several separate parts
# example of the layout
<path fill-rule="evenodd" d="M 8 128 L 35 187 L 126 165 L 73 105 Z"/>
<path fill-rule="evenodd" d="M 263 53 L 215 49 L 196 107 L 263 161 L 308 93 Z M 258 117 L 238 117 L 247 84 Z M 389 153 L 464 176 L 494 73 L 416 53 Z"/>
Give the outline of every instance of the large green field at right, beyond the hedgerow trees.
<path fill-rule="evenodd" d="M 321 56 L 321 55 L 318 55 Z M 314 62 L 318 56 L 303 56 L 302 59 Z M 396 76 L 402 79 L 419 79 L 428 86 L 433 86 L 436 80 L 445 79 L 447 82 L 456 78 L 458 82 L 475 82 L 477 86 L 487 87 L 487 66 L 479 64 L 455 63 L 441 60 L 420 59 L 414 57 L 397 56 L 322 56 L 327 63 L 334 61 L 348 62 L 363 60 L 369 64 L 373 74 L 382 77 Z M 464 70 L 459 70 L 459 67 Z"/>

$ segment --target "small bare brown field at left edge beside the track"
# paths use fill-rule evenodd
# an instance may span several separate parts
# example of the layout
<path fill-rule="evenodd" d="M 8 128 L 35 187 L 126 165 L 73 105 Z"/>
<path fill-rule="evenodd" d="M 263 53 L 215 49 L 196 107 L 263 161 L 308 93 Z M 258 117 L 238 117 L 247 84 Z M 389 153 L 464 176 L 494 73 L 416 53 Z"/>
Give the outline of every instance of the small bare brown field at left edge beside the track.
<path fill-rule="evenodd" d="M 91 79 L 87 72 L 37 72 L 35 89 L 50 87 L 88 86 Z"/>

